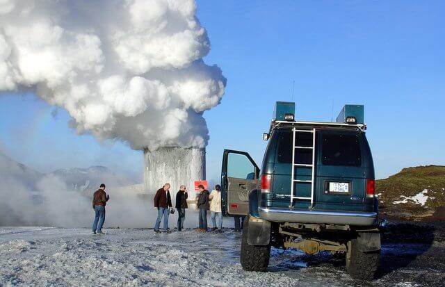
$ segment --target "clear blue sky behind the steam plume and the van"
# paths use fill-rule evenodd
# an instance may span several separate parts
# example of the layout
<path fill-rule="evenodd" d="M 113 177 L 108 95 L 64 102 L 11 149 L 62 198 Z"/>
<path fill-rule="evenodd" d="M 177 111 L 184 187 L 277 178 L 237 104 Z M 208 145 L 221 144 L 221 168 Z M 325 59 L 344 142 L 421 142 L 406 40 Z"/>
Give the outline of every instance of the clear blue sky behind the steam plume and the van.
<path fill-rule="evenodd" d="M 206 112 L 207 178 L 224 148 L 261 163 L 275 101 L 296 101 L 299 120 L 330 121 L 364 104 L 375 171 L 445 165 L 444 1 L 197 1 L 211 52 L 227 77 Z M 78 136 L 65 110 L 35 96 L 0 97 L 0 149 L 36 170 L 106 165 L 142 178 L 143 155 L 122 142 Z"/>

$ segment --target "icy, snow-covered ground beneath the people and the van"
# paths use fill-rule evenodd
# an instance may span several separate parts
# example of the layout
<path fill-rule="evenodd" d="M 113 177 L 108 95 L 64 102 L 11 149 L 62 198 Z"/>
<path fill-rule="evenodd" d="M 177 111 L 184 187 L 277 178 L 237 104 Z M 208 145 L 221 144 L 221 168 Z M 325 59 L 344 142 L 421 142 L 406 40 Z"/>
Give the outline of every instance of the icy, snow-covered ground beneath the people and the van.
<path fill-rule="evenodd" d="M 405 268 L 367 284 L 350 279 L 344 263 L 327 254 L 282 249 L 272 250 L 268 272 L 245 272 L 239 263 L 241 233 L 233 229 L 105 232 L 0 227 L 0 286 L 415 286 L 407 274 L 422 272 Z M 400 246 L 384 247 L 384 253 L 385 248 L 401 252 Z"/>

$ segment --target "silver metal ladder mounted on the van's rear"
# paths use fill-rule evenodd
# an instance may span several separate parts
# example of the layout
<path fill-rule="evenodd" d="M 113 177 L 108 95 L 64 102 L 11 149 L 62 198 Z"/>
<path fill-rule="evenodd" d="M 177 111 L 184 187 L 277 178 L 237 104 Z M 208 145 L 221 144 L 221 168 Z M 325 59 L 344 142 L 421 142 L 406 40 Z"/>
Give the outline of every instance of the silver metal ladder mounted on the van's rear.
<path fill-rule="evenodd" d="M 292 177 L 291 177 L 291 204 L 289 205 L 289 208 L 293 207 L 293 201 L 294 199 L 300 199 L 300 200 L 310 200 L 311 201 L 311 208 L 314 206 L 314 193 L 315 193 L 315 129 L 297 129 L 293 128 L 293 140 L 292 140 Z M 312 133 L 312 147 L 304 147 L 304 146 L 298 146 L 297 143 L 297 137 L 298 133 Z M 312 150 L 312 161 L 310 163 L 296 163 L 296 152 L 298 152 L 298 149 L 311 149 Z M 303 167 L 303 168 L 309 168 L 312 170 L 311 174 L 311 180 L 300 180 L 296 179 L 296 167 Z M 310 197 L 302 197 L 298 196 L 298 190 L 296 190 L 296 183 L 305 183 L 311 185 L 311 196 Z"/>

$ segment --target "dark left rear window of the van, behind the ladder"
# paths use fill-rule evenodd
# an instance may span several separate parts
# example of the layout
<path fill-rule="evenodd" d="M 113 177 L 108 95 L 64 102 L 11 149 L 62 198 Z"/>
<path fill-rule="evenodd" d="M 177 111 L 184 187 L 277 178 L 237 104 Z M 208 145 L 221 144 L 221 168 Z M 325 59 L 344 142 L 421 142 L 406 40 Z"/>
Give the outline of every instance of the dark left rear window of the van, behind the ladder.
<path fill-rule="evenodd" d="M 280 133 L 278 138 L 278 163 L 292 163 L 293 132 Z M 297 133 L 296 146 L 312 147 L 312 133 Z M 296 163 L 312 163 L 312 149 L 297 149 L 295 154 Z"/>

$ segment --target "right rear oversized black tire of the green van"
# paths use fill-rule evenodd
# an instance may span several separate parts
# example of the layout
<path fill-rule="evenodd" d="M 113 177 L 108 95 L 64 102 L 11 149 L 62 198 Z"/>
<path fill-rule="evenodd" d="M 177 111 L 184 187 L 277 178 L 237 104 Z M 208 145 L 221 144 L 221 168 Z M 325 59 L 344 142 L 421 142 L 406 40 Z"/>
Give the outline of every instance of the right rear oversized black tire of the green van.
<path fill-rule="evenodd" d="M 358 248 L 357 238 L 348 243 L 346 253 L 346 270 L 353 279 L 372 280 L 380 265 L 380 250 L 362 252 Z"/>

